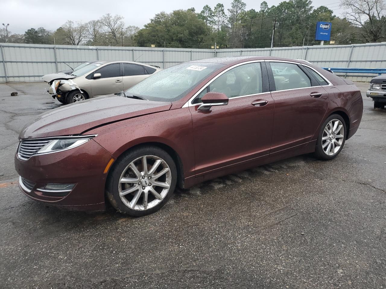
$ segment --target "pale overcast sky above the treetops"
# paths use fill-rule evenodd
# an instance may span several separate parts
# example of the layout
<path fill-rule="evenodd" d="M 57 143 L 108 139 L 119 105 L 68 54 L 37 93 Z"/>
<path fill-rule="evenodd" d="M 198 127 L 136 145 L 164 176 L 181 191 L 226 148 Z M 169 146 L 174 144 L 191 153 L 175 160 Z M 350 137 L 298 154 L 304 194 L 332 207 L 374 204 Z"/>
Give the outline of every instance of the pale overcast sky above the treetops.
<path fill-rule="evenodd" d="M 259 10 L 262 1 L 243 0 L 248 9 Z M 314 0 L 313 6 L 325 5 L 334 10 L 339 16 L 339 0 Z M 206 4 L 212 8 L 218 3 L 223 3 L 225 10 L 230 8 L 232 0 L 195 0 L 195 1 L 173 1 L 173 0 L 1 0 L 0 24 L 9 23 L 8 29 L 12 33 L 22 34 L 25 30 L 33 27 L 44 27 L 48 30 L 56 30 L 67 20 L 74 22 L 88 22 L 100 18 L 103 14 L 119 14 L 125 17 L 127 25 L 136 25 L 140 28 L 149 22 L 156 13 L 171 12 L 176 9 L 188 9 L 195 7 L 200 12 Z M 268 6 L 278 5 L 282 0 L 268 0 Z M 1 25 L 1 28 L 3 26 Z"/>

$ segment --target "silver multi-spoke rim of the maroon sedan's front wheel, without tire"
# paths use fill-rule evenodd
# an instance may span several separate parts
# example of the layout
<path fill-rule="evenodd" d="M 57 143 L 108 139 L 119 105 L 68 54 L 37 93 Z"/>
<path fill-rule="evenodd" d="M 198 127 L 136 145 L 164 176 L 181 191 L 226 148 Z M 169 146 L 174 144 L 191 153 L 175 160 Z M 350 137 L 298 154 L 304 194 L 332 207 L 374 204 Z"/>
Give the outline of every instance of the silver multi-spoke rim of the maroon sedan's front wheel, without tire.
<path fill-rule="evenodd" d="M 136 158 L 119 178 L 119 197 L 132 210 L 148 210 L 159 204 L 171 185 L 169 165 L 158 156 Z"/>

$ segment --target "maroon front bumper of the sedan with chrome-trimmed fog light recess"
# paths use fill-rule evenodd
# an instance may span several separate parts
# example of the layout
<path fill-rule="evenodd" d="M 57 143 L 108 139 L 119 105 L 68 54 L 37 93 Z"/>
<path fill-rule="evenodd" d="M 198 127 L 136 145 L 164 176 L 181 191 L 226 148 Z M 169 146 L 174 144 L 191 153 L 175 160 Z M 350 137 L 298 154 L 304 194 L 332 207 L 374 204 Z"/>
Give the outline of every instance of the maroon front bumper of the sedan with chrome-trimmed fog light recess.
<path fill-rule="evenodd" d="M 69 210 L 105 209 L 105 167 L 112 159 L 93 139 L 67 151 L 37 155 L 27 161 L 15 155 L 19 188 L 28 197 Z M 24 180 L 23 180 L 24 179 Z M 43 192 L 45 184 L 75 184 L 62 195 Z"/>

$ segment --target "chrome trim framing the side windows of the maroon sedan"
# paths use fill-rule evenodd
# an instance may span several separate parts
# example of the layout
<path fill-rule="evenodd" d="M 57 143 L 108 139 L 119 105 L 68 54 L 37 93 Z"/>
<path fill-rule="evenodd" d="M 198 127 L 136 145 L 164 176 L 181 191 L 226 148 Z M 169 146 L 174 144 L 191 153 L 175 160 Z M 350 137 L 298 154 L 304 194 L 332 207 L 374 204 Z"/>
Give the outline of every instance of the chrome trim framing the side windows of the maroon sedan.
<path fill-rule="evenodd" d="M 306 60 L 303 60 L 303 61 L 306 61 Z M 237 66 L 241 66 L 243 64 L 249 64 L 249 63 L 255 63 L 255 62 L 284 62 L 284 63 L 291 63 L 291 64 L 296 64 L 296 65 L 306 66 L 306 67 L 312 69 L 313 71 L 315 71 L 317 74 L 319 74 L 320 77 L 322 77 L 328 83 L 328 85 L 317 85 L 317 86 L 299 87 L 299 88 L 291 88 L 291 89 L 284 89 L 284 90 L 266 91 L 266 92 L 260 92 L 260 93 L 256 93 L 256 94 L 249 94 L 249 95 L 230 97 L 229 100 L 230 99 L 235 99 L 235 98 L 241 98 L 241 97 L 254 96 L 254 95 L 257 96 L 257 95 L 266 94 L 266 93 L 270 93 L 270 92 L 282 92 L 282 91 L 292 91 L 292 90 L 295 90 L 295 89 L 306 89 L 306 88 L 312 88 L 312 87 L 334 86 L 334 84 L 332 84 L 325 76 L 320 74 L 320 72 L 315 70 L 313 67 L 308 66 L 308 65 L 303 64 L 303 63 L 300 63 L 300 62 L 288 61 L 288 60 L 276 60 L 276 59 L 275 60 L 250 60 L 250 61 L 245 61 L 245 62 L 241 62 L 241 63 L 235 64 L 234 66 L 228 67 L 224 71 L 220 72 L 217 76 L 213 77 L 210 81 L 208 81 L 207 84 L 205 84 L 199 91 L 197 91 L 187 102 L 185 102 L 185 104 L 181 108 L 188 108 L 190 106 L 196 106 L 196 105 L 202 104 L 202 102 L 195 103 L 195 104 L 192 104 L 191 102 L 193 101 L 193 99 L 196 98 L 196 96 L 198 96 L 198 94 L 200 94 L 208 85 L 210 85 L 218 77 L 220 77 L 225 72 L 227 72 L 230 69 L 233 69 L 233 68 L 235 68 Z"/>

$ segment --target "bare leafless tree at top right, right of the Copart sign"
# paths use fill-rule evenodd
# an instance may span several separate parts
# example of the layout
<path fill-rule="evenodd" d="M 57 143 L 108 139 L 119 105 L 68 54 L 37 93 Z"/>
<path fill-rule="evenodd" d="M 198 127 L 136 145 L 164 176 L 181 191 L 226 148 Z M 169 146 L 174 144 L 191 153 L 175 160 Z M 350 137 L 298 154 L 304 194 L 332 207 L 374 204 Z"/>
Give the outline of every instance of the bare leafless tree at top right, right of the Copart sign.
<path fill-rule="evenodd" d="M 386 38 L 386 8 L 383 0 L 342 0 L 347 9 L 345 17 L 359 26 L 359 33 L 366 42 Z"/>

